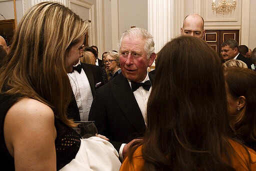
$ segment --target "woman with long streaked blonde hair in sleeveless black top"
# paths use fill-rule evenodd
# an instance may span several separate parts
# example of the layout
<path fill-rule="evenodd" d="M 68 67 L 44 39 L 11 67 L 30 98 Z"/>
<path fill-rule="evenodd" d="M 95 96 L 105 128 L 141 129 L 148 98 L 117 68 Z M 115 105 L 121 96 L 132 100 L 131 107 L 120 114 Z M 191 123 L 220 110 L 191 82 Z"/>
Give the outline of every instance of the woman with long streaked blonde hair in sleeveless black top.
<path fill-rule="evenodd" d="M 67 72 L 79 59 L 87 25 L 57 2 L 41 2 L 22 17 L 0 68 L 0 168 L 58 170 L 79 149 L 67 118 Z"/>

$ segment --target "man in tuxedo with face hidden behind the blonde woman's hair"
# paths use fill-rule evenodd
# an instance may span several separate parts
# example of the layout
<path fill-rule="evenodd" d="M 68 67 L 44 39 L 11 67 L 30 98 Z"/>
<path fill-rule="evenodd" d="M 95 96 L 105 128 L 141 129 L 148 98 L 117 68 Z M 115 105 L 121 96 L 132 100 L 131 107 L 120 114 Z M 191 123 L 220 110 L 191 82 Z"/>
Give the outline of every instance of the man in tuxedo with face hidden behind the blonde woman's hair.
<path fill-rule="evenodd" d="M 79 48 L 80 57 L 83 55 L 83 49 L 82 45 Z M 67 75 L 73 91 L 67 108 L 68 117 L 74 121 L 87 121 L 95 90 L 107 82 L 105 69 L 78 60 L 73 66 L 73 71 Z"/>

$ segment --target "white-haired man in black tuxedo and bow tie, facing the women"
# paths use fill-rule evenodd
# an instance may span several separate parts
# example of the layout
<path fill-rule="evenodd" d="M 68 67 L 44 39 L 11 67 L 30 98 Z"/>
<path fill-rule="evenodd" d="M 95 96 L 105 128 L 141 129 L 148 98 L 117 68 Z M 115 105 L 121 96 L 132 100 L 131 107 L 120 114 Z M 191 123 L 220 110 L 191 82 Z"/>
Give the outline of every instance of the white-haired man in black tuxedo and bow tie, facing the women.
<path fill-rule="evenodd" d="M 153 75 L 148 73 L 155 58 L 152 35 L 143 28 L 124 31 L 119 39 L 121 74 L 96 91 L 89 120 L 105 135 L 122 159 L 129 145 L 145 131 L 146 104 Z"/>

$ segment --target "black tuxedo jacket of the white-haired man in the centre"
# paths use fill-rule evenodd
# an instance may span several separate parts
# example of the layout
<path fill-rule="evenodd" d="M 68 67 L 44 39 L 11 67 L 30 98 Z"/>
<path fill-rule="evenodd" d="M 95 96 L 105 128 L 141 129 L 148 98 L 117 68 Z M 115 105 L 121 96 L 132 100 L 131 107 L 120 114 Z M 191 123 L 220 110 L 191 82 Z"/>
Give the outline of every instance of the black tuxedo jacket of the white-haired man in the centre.
<path fill-rule="evenodd" d="M 153 75 L 148 73 L 153 82 Z M 142 137 L 145 122 L 128 80 L 120 73 L 96 91 L 89 120 L 94 120 L 98 133 L 109 138 L 119 151 L 122 143 Z"/>

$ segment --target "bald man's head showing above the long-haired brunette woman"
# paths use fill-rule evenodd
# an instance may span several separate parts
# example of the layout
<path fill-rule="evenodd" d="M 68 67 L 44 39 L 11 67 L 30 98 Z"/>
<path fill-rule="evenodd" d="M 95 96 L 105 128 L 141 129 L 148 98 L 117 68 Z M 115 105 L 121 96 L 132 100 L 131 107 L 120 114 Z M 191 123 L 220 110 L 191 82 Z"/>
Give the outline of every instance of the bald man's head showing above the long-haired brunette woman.
<path fill-rule="evenodd" d="M 197 13 L 189 14 L 184 18 L 183 26 L 180 28 L 181 35 L 192 35 L 203 38 L 205 30 L 203 29 L 204 20 Z"/>

